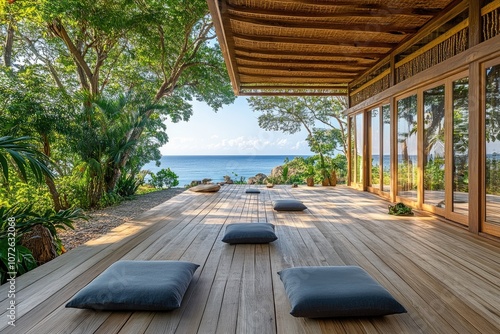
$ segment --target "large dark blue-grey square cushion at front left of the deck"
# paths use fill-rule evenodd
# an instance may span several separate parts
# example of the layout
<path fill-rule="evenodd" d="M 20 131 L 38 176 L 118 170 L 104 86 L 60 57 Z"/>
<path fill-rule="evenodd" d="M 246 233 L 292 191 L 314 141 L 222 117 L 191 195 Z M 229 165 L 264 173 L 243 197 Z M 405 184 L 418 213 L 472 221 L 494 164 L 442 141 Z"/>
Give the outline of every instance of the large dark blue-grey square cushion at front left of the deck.
<path fill-rule="evenodd" d="M 199 265 L 182 261 L 118 261 L 66 304 L 110 311 L 168 311 L 181 306 Z"/>

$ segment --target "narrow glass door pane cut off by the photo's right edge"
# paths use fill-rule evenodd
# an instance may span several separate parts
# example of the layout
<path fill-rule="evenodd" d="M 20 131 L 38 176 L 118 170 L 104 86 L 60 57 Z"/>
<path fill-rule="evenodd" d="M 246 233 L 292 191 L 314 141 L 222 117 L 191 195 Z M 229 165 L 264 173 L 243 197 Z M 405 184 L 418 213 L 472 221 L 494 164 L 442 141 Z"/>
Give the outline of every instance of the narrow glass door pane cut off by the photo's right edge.
<path fill-rule="evenodd" d="M 500 227 L 500 65 L 486 68 L 486 223 Z"/>

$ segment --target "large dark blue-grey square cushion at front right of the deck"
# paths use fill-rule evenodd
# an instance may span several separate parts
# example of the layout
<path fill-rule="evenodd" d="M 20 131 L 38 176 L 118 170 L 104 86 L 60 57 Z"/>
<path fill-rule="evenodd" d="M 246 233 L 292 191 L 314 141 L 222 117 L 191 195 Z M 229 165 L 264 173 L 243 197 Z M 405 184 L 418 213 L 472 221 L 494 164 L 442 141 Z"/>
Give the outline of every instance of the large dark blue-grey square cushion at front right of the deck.
<path fill-rule="evenodd" d="M 405 308 L 357 266 L 296 267 L 278 273 L 295 317 L 371 317 Z"/>

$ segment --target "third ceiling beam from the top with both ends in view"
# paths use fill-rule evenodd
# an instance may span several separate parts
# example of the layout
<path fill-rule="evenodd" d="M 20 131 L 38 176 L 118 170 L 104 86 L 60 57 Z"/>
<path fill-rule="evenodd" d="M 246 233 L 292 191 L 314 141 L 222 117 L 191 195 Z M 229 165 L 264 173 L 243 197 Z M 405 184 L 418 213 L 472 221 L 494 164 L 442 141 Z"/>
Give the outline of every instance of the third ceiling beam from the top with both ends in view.
<path fill-rule="evenodd" d="M 304 56 L 304 57 L 346 57 L 346 58 L 360 58 L 366 60 L 378 60 L 386 55 L 386 52 L 303 52 L 303 51 L 292 51 L 292 50 L 269 50 L 269 49 L 250 49 L 242 47 L 234 47 L 235 52 L 245 52 L 251 55 L 263 54 L 263 55 L 273 55 L 273 56 Z M 237 57 L 239 57 L 237 55 Z"/>

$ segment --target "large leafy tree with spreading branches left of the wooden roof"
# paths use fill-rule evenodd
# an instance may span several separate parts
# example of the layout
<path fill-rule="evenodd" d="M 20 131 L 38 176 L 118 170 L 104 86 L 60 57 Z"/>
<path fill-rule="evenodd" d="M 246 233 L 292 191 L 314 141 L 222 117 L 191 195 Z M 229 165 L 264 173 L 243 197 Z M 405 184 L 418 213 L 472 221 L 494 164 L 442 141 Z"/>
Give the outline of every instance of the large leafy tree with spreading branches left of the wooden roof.
<path fill-rule="evenodd" d="M 93 191 L 113 191 L 125 169 L 158 157 L 164 123 L 187 121 L 192 99 L 215 111 L 234 101 L 204 0 L 16 1 L 1 14 L 12 72 L 32 68 L 52 78 L 47 91 L 81 101 L 68 142 L 74 166 L 96 167 Z M 124 96 L 126 116 L 99 110 Z"/>

